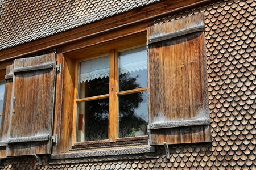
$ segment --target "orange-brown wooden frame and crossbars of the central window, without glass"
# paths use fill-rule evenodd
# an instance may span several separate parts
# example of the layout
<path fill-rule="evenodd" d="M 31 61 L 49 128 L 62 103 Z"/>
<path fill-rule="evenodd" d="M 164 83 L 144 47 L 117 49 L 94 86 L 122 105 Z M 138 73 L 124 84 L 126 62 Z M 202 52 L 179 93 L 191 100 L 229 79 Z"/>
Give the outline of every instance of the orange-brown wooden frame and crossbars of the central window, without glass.
<path fill-rule="evenodd" d="M 146 39 L 146 37 L 145 37 Z M 82 61 L 88 61 L 90 59 L 94 59 L 101 56 L 106 56 L 106 53 L 100 56 L 88 56 L 86 58 L 78 58 L 75 60 L 75 88 L 74 88 L 74 105 L 73 105 L 73 137 L 72 137 L 72 146 L 86 146 L 86 145 L 102 145 L 106 143 L 118 143 L 118 142 L 125 142 L 125 141 L 134 141 L 134 143 L 139 143 L 143 140 L 148 139 L 148 135 L 144 135 L 141 137 L 126 137 L 126 138 L 118 138 L 118 96 L 122 95 L 129 95 L 134 94 L 137 92 L 147 91 L 147 87 L 136 88 L 133 90 L 126 90 L 126 91 L 118 91 L 118 53 L 138 48 L 141 46 L 145 46 L 146 42 L 140 45 L 132 46 L 130 45 L 128 48 L 117 48 L 117 49 L 110 49 L 109 53 L 109 94 L 92 96 L 92 97 L 85 97 L 82 99 L 77 99 L 79 93 L 79 63 Z M 85 142 L 77 142 L 77 111 L 78 103 L 82 103 L 85 101 L 92 101 L 98 99 L 106 99 L 109 98 L 109 133 L 108 139 L 100 140 L 100 141 L 85 141 Z"/>

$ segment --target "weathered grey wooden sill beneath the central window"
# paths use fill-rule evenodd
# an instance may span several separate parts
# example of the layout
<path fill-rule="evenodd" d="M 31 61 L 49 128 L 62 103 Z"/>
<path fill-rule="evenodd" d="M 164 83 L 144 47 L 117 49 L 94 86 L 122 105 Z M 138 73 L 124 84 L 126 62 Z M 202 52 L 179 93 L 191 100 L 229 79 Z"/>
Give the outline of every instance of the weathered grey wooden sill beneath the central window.
<path fill-rule="evenodd" d="M 52 154 L 51 159 L 72 159 L 72 158 L 88 158 L 94 156 L 112 156 L 112 155 L 129 155 L 129 154 L 146 154 L 155 152 L 154 146 L 129 146 L 122 148 L 109 148 L 101 150 L 88 150 L 79 152 L 68 152 L 65 154 Z"/>

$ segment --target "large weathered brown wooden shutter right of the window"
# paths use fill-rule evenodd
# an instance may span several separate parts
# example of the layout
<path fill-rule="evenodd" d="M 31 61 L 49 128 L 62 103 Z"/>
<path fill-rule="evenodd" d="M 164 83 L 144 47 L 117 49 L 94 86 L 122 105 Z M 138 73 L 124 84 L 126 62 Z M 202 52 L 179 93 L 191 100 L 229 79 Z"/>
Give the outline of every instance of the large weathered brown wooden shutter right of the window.
<path fill-rule="evenodd" d="M 148 27 L 150 145 L 209 142 L 204 16 Z"/>

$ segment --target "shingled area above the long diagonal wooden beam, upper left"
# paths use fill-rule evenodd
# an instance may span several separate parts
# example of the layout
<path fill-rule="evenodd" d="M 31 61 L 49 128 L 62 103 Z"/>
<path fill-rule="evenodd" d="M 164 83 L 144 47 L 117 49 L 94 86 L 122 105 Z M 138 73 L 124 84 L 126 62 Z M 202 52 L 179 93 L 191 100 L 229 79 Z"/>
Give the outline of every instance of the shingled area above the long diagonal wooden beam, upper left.
<path fill-rule="evenodd" d="M 0 0 L 0 50 L 160 0 Z"/>

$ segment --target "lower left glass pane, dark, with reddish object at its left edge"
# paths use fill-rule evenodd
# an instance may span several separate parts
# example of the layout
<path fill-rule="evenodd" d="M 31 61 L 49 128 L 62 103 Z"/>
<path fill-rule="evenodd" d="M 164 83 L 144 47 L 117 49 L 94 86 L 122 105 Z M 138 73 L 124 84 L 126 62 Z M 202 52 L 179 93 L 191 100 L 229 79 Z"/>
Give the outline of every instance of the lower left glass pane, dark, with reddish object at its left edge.
<path fill-rule="evenodd" d="M 77 104 L 77 142 L 108 139 L 109 99 Z"/>

